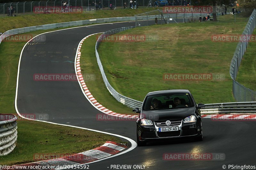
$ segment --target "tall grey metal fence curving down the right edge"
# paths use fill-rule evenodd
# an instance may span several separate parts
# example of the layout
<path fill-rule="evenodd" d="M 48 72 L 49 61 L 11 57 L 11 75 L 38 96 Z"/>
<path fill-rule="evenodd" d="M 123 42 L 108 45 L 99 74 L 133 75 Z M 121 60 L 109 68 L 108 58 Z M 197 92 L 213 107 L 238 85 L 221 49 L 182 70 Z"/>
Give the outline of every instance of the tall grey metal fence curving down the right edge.
<path fill-rule="evenodd" d="M 230 76 L 233 80 L 233 95 L 236 101 L 256 101 L 256 92 L 244 87 L 236 81 L 238 69 L 242 58 L 244 56 L 245 50 L 248 46 L 250 37 L 252 36 L 253 30 L 256 25 L 256 10 L 253 10 L 252 15 L 249 18 L 249 21 L 242 33 L 242 37 L 245 37 L 245 40 L 239 41 L 236 47 L 236 51 L 232 58 L 230 64 Z"/>

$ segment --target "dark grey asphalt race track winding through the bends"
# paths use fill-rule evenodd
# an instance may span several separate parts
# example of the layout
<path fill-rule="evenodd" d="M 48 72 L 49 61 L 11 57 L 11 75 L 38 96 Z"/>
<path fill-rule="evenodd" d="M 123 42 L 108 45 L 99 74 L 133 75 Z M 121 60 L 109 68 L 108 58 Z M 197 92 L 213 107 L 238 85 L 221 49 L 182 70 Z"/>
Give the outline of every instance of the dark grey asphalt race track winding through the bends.
<path fill-rule="evenodd" d="M 129 137 L 136 141 L 135 121 L 98 121 L 94 108 L 84 97 L 77 81 L 34 81 L 36 73 L 75 74 L 78 43 L 87 35 L 134 26 L 134 22 L 103 24 L 46 33 L 46 41 L 28 43 L 22 53 L 17 108 L 20 113 L 43 113 L 49 122 L 68 124 Z M 146 94 L 145 94 L 146 95 Z M 203 119 L 204 141 L 171 140 L 153 142 L 120 156 L 89 164 L 105 170 L 111 165 L 145 165 L 145 169 L 222 169 L 223 165 L 256 165 L 254 121 Z M 224 153 L 225 160 L 164 160 L 164 153 Z M 112 168 L 113 169 L 113 168 Z M 133 169 L 133 168 L 132 168 Z"/>

